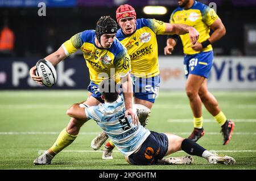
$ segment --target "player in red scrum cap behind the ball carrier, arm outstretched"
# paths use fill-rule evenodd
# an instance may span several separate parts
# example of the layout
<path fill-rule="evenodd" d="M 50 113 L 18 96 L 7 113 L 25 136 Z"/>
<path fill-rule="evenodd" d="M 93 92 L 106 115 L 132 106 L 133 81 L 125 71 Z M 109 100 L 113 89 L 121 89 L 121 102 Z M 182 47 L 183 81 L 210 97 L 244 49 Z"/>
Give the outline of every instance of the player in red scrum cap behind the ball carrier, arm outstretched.
<path fill-rule="evenodd" d="M 116 11 L 116 18 L 119 26 L 117 39 L 125 45 L 131 58 L 131 77 L 133 78 L 134 106 L 150 112 L 159 89 L 159 65 L 158 65 L 158 44 L 156 35 L 187 34 L 191 37 L 191 43 L 195 44 L 199 33 L 193 27 L 183 24 L 164 23 L 156 19 L 136 19 L 136 12 L 130 5 L 121 5 Z M 137 111 L 139 120 L 142 121 L 143 113 Z M 143 119 L 143 126 L 146 125 L 147 117 Z M 100 148 L 93 146 L 93 148 Z M 109 154 L 113 149 L 112 142 L 105 146 L 106 150 L 102 158 L 112 158 Z M 108 150 L 109 149 L 109 150 Z M 109 155 L 106 157 L 105 155 Z"/>

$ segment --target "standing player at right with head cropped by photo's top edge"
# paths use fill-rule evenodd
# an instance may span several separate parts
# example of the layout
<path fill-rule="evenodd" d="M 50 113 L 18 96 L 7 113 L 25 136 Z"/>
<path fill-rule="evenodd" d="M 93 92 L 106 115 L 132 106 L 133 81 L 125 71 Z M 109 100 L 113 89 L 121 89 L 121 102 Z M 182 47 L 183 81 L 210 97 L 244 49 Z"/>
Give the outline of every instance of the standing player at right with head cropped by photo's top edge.
<path fill-rule="evenodd" d="M 184 73 L 187 77 L 186 92 L 193 112 L 194 129 L 189 139 L 199 140 L 204 136 L 201 104 L 221 125 L 224 136 L 223 145 L 232 137 L 234 123 L 226 119 L 218 107 L 216 98 L 208 91 L 207 79 L 213 64 L 212 44 L 225 35 L 226 30 L 216 12 L 203 3 L 194 0 L 177 0 L 179 7 L 171 14 L 170 23 L 182 23 L 193 26 L 200 33 L 199 40 L 191 45 L 188 35 L 180 35 L 184 50 Z M 209 35 L 213 30 L 212 35 Z M 171 54 L 178 40 L 178 35 L 171 35 L 164 48 L 164 54 Z"/>

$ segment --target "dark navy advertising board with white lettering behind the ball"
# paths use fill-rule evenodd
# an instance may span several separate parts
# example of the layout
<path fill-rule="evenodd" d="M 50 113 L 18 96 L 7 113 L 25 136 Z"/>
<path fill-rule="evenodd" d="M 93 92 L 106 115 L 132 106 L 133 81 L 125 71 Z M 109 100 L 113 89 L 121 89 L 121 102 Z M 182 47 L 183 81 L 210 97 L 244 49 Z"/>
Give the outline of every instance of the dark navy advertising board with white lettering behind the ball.
<path fill-rule="evenodd" d="M 89 73 L 85 60 L 68 58 L 56 67 L 57 83 L 52 87 L 32 81 L 29 70 L 40 58 L 0 58 L 0 89 L 87 89 Z"/>

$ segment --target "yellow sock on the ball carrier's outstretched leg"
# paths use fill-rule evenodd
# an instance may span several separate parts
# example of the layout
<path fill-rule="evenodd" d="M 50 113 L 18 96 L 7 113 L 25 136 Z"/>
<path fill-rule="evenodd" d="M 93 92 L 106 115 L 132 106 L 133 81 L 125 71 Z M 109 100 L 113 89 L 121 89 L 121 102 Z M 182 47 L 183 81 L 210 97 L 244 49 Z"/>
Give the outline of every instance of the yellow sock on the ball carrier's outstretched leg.
<path fill-rule="evenodd" d="M 59 136 L 57 137 L 57 140 L 50 148 L 54 153 L 59 153 L 61 150 L 66 148 L 68 145 L 70 145 L 75 139 L 76 136 L 73 136 L 71 134 L 68 134 L 66 131 L 66 128 L 63 129 L 63 131 L 60 132 Z"/>

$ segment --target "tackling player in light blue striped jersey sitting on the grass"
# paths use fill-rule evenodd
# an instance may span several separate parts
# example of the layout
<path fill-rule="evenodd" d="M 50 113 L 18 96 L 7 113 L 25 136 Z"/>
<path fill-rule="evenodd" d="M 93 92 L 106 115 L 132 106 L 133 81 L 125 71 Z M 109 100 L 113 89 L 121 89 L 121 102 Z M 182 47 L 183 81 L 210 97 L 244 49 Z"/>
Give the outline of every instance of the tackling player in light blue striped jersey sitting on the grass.
<path fill-rule="evenodd" d="M 108 134 L 116 148 L 125 155 L 126 161 L 134 165 L 179 164 L 193 162 L 191 156 L 163 158 L 176 151 L 207 159 L 209 163 L 234 164 L 234 158 L 210 153 L 196 142 L 170 133 L 157 133 L 144 128 L 131 116 L 125 117 L 125 104 L 119 94 L 119 87 L 113 79 L 100 83 L 99 91 L 105 103 L 86 107 L 74 104 L 69 116 L 77 119 L 93 119 Z M 77 117 L 78 116 L 78 117 Z"/>

